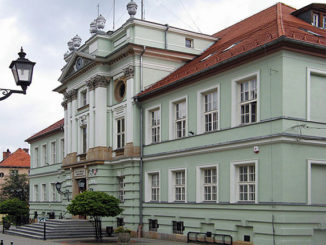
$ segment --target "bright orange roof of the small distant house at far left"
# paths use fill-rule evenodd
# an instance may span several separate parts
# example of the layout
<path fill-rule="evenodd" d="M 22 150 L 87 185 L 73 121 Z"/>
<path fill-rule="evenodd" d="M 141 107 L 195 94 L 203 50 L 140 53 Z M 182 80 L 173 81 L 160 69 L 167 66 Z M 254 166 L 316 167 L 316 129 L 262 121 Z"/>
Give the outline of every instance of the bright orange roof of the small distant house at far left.
<path fill-rule="evenodd" d="M 6 159 L 0 162 L 1 167 L 23 167 L 29 168 L 31 166 L 31 158 L 29 154 L 21 148 L 10 154 Z"/>

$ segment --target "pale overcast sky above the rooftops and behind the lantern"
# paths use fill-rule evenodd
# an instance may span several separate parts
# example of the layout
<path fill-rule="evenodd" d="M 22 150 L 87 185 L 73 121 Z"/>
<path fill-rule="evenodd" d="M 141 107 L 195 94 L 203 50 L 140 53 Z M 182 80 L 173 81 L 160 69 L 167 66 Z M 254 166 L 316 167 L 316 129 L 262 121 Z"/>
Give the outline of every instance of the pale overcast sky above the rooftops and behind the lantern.
<path fill-rule="evenodd" d="M 140 0 L 137 18 L 140 18 Z M 129 0 L 116 0 L 115 22 L 120 27 L 128 18 Z M 145 18 L 197 32 L 213 34 L 250 15 L 274 5 L 276 0 L 144 0 Z M 294 8 L 309 0 L 284 0 Z M 326 3 L 326 0 L 318 0 Z M 89 24 L 100 13 L 112 30 L 113 0 L 0 0 L 0 88 L 18 89 L 9 64 L 23 46 L 27 58 L 36 62 L 27 95 L 13 94 L 0 101 L 0 160 L 9 148 L 28 148 L 25 139 L 63 118 L 59 86 L 67 42 L 76 34 L 82 43 L 89 37 Z"/>

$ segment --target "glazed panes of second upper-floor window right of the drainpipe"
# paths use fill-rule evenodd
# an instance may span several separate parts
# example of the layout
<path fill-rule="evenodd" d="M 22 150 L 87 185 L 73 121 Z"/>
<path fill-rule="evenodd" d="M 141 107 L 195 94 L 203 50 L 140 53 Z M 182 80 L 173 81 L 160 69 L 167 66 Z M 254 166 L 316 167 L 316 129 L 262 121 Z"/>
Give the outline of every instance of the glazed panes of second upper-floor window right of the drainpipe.
<path fill-rule="evenodd" d="M 175 138 L 186 136 L 187 108 L 186 101 L 175 104 Z"/>

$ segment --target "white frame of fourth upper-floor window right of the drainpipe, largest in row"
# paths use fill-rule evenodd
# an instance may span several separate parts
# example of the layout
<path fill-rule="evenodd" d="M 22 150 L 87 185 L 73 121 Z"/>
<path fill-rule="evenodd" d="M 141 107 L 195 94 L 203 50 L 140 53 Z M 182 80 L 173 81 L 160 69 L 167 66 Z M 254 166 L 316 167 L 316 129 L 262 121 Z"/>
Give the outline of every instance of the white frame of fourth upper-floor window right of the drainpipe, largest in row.
<path fill-rule="evenodd" d="M 256 89 L 257 89 L 257 114 L 256 114 L 256 122 L 260 121 L 260 72 L 256 71 L 242 77 L 238 77 L 232 80 L 232 94 L 231 94 L 231 104 L 232 104 L 232 113 L 231 113 L 231 126 L 236 127 L 241 125 L 241 111 L 240 111 L 240 84 L 242 82 L 246 82 L 251 80 L 252 78 L 256 78 Z M 250 125 L 251 123 L 247 123 L 244 125 Z"/>

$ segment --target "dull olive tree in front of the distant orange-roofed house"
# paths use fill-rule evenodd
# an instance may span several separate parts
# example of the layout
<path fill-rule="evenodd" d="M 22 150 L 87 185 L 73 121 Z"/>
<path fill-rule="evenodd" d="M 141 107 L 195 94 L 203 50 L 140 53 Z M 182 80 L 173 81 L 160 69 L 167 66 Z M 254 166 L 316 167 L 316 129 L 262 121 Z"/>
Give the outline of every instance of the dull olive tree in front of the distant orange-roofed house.
<path fill-rule="evenodd" d="M 2 185 L 1 199 L 18 198 L 21 201 L 29 200 L 29 183 L 26 174 L 11 174 L 6 177 Z"/>

